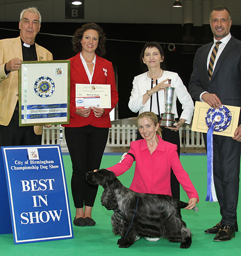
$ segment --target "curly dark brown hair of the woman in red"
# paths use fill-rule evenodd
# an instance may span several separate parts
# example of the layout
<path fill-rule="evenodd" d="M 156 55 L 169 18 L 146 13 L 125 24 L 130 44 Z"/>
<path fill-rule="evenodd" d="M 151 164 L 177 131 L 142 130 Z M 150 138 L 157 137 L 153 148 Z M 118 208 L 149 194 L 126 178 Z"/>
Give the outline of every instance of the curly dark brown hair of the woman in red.
<path fill-rule="evenodd" d="M 89 29 L 93 29 L 98 32 L 99 41 L 98 41 L 98 46 L 95 50 L 95 53 L 99 56 L 103 56 L 106 53 L 106 48 L 105 48 L 106 36 L 102 28 L 95 23 L 86 23 L 75 31 L 74 37 L 72 38 L 74 51 L 76 53 L 79 53 L 82 51 L 82 45 L 80 43 L 80 40 L 82 39 L 84 32 Z"/>

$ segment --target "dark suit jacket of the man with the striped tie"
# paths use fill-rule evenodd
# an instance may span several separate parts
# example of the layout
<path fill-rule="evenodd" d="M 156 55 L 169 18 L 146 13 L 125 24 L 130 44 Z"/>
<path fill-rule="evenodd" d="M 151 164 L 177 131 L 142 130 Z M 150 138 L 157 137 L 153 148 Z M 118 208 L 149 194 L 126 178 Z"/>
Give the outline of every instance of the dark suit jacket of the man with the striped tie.
<path fill-rule="evenodd" d="M 200 94 L 207 91 L 216 94 L 224 105 L 241 107 L 241 41 L 231 37 L 209 81 L 207 57 L 212 45 L 213 42 L 197 50 L 188 86 L 189 93 L 200 101 Z"/>

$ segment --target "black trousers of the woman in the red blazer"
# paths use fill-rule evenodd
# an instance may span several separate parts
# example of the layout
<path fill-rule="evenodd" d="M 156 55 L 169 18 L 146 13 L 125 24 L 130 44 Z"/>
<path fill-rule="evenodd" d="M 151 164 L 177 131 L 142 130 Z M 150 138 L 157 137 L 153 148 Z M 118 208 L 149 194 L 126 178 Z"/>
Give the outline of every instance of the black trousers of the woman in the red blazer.
<path fill-rule="evenodd" d="M 109 128 L 91 125 L 65 127 L 65 137 L 72 162 L 71 189 L 75 208 L 93 206 L 98 186 L 91 185 L 85 174 L 99 169 Z"/>

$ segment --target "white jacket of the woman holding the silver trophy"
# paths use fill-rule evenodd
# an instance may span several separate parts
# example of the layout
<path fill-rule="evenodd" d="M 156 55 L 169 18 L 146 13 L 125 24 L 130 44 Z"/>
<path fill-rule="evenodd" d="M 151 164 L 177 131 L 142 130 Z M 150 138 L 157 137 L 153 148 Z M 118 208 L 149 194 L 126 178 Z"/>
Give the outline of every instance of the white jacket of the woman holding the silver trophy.
<path fill-rule="evenodd" d="M 170 72 L 164 70 L 163 75 L 160 79 L 158 79 L 158 83 L 165 79 L 171 79 L 171 86 L 175 88 L 174 91 L 174 98 L 173 98 L 173 108 L 172 113 L 175 114 L 175 118 L 178 118 L 177 115 L 177 109 L 176 109 L 176 98 L 180 101 L 182 104 L 182 114 L 180 116 L 180 119 L 186 119 L 186 123 L 190 123 L 192 119 L 192 114 L 194 110 L 194 105 L 192 98 L 190 94 L 187 92 L 186 86 L 183 84 L 181 78 L 178 76 L 177 73 Z M 153 84 L 153 87 L 156 84 Z M 133 81 L 133 88 L 129 100 L 129 108 L 133 112 L 138 112 L 139 114 L 144 111 L 150 111 L 150 99 L 147 100 L 147 103 L 145 105 L 142 104 L 143 95 L 147 93 L 147 90 L 151 89 L 151 79 L 147 77 L 147 72 L 134 77 Z M 165 112 L 165 99 L 164 99 L 164 90 L 161 90 L 158 92 L 158 98 L 159 98 L 159 106 L 160 106 L 160 113 Z M 156 94 L 152 94 L 152 108 L 151 111 L 155 114 L 158 113 L 158 107 L 157 107 L 157 96 Z"/>

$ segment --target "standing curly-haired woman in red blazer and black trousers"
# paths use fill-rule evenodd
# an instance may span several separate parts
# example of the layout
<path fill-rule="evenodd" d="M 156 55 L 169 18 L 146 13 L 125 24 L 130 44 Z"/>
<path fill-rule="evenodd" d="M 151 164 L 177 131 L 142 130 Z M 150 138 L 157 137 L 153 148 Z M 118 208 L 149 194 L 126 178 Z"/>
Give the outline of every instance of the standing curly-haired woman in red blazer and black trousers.
<path fill-rule="evenodd" d="M 98 186 L 90 185 L 85 174 L 100 167 L 111 127 L 109 112 L 118 102 L 112 63 L 100 57 L 106 52 L 105 41 L 101 27 L 85 24 L 74 34 L 73 49 L 78 54 L 70 58 L 70 122 L 63 126 L 73 168 L 74 225 L 80 227 L 95 225 L 91 214 Z M 111 108 L 76 108 L 76 83 L 110 84 Z"/>

